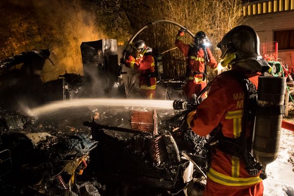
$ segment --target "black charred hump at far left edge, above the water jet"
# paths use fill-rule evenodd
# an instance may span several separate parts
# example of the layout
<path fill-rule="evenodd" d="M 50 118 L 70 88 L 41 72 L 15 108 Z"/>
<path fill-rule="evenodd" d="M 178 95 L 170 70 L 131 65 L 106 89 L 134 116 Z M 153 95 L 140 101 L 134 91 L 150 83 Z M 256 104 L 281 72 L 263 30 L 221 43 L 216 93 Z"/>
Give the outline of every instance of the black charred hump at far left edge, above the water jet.
<path fill-rule="evenodd" d="M 35 107 L 44 102 L 41 74 L 49 49 L 24 51 L 0 62 L 0 105 L 4 109 L 16 110 L 25 104 Z M 20 69 L 13 66 L 23 63 Z M 20 101 L 22 103 L 20 103 Z"/>

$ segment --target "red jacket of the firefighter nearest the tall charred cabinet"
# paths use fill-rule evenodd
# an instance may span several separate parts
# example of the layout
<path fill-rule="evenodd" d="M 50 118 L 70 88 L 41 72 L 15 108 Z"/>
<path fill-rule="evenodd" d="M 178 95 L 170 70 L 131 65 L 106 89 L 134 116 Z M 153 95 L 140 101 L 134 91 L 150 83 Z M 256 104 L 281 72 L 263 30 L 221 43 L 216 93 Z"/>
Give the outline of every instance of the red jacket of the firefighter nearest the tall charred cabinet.
<path fill-rule="evenodd" d="M 155 72 L 155 60 L 152 55 L 146 55 L 147 51 L 146 49 L 142 54 L 143 56 L 137 59 L 130 55 L 125 62 L 126 67 L 140 71 L 141 90 L 156 89 L 156 78 L 148 77 L 149 73 Z"/>

